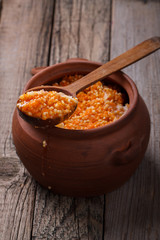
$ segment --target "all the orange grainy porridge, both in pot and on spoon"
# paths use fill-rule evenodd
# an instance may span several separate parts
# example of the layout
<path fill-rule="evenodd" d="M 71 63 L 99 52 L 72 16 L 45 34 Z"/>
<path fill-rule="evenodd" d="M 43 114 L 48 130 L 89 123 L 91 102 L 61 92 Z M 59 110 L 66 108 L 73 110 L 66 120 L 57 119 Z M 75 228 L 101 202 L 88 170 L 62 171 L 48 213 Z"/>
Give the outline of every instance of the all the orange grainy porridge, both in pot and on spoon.
<path fill-rule="evenodd" d="M 81 77 L 80 74 L 65 76 L 52 85 L 67 86 Z M 28 91 L 19 97 L 17 107 L 33 118 L 59 118 L 61 123 L 56 125 L 59 128 L 83 130 L 118 120 L 128 110 L 129 103 L 127 94 L 118 85 L 98 81 L 79 92 L 77 98 L 56 91 Z M 64 120 L 64 116 L 70 117 Z"/>

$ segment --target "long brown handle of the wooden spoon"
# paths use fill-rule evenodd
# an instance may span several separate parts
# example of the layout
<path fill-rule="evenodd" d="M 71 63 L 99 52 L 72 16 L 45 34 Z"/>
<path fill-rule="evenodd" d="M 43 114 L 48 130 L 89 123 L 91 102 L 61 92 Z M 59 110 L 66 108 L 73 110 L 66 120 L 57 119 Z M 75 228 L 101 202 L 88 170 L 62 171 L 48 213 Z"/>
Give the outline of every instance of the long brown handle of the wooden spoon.
<path fill-rule="evenodd" d="M 160 37 L 150 38 L 135 47 L 129 49 L 120 56 L 105 63 L 101 67 L 82 77 L 80 80 L 69 85 L 69 91 L 73 94 L 80 92 L 91 84 L 103 79 L 104 77 L 124 68 L 132 63 L 146 57 L 160 48 Z M 68 86 L 67 86 L 68 87 Z M 66 88 L 67 88 L 66 87 Z"/>

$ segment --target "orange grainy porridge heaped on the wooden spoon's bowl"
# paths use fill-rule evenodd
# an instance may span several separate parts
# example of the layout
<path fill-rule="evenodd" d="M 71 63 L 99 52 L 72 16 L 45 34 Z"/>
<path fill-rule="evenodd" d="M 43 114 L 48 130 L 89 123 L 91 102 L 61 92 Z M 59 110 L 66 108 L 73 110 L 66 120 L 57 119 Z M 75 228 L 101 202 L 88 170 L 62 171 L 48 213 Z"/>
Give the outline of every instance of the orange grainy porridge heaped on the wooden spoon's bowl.
<path fill-rule="evenodd" d="M 77 106 L 77 99 L 56 91 L 30 91 L 19 97 L 17 107 L 24 114 L 42 120 L 70 115 Z"/>

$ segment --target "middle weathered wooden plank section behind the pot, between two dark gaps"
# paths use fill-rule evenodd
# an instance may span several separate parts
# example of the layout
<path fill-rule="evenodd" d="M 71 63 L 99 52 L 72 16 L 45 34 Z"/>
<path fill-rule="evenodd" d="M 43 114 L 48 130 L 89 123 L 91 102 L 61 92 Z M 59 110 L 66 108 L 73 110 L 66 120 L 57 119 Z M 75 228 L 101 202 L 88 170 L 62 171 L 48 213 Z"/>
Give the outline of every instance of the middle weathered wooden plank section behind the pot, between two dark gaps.
<path fill-rule="evenodd" d="M 74 57 L 106 62 L 109 30 L 109 0 L 57 1 L 50 63 Z"/>

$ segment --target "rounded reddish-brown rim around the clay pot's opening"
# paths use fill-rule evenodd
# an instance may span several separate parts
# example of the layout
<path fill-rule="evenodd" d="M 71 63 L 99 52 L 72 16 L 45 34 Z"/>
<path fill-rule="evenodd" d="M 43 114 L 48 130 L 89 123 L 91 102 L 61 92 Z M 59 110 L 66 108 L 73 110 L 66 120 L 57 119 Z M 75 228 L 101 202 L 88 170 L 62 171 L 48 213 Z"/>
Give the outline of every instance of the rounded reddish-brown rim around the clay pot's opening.
<path fill-rule="evenodd" d="M 59 68 L 62 68 L 63 66 L 68 67 L 68 70 L 71 70 L 71 68 L 73 68 L 73 65 L 80 65 L 80 64 L 85 64 L 86 66 L 95 66 L 95 67 L 99 67 L 102 65 L 102 63 L 99 62 L 93 62 L 93 61 L 88 61 L 86 59 L 79 59 L 79 58 L 74 58 L 74 59 L 69 59 L 66 62 L 62 62 L 62 63 L 57 63 L 55 65 L 52 66 L 48 66 L 45 69 L 41 70 L 39 73 L 37 73 L 36 75 L 34 75 L 25 85 L 24 91 L 28 90 L 30 87 L 30 85 L 32 85 L 33 83 L 38 82 L 38 80 L 41 78 L 45 79 L 45 75 L 49 75 L 50 77 L 53 74 L 53 71 L 57 71 Z M 87 69 L 87 68 L 86 68 Z M 70 71 L 71 72 L 71 71 Z M 65 74 L 65 72 L 64 72 Z M 62 74 L 61 74 L 62 75 Z M 120 86 L 122 86 L 125 91 L 127 92 L 128 96 L 129 96 L 129 109 L 127 110 L 127 112 L 118 120 L 116 120 L 115 122 L 112 122 L 108 125 L 102 126 L 102 127 L 97 127 L 97 128 L 93 128 L 93 129 L 85 129 L 85 130 L 75 130 L 75 129 L 64 129 L 64 128 L 59 128 L 59 127 L 53 127 L 52 129 L 49 129 L 49 132 L 51 133 L 52 131 L 54 131 L 54 134 L 57 133 L 58 135 L 67 135 L 67 137 L 69 136 L 77 136 L 77 135 L 92 135 L 92 134 L 105 134 L 109 133 L 111 131 L 113 131 L 114 129 L 117 130 L 120 127 L 122 127 L 126 121 L 128 121 L 128 119 L 130 119 L 130 117 L 132 117 L 133 112 L 136 110 L 136 106 L 138 103 L 138 90 L 137 87 L 135 85 L 135 83 L 133 82 L 133 80 L 124 72 L 122 71 L 118 71 L 112 75 L 109 76 L 109 79 L 111 81 L 113 81 L 112 76 L 114 78 L 114 76 L 119 75 L 123 78 L 123 80 L 125 79 L 125 81 L 127 82 L 128 86 L 130 87 L 130 92 L 127 91 L 127 89 L 122 86 L 120 83 L 118 83 Z M 47 82 L 50 82 L 50 80 L 46 80 L 46 82 L 43 84 L 46 84 Z M 114 82 L 114 81 L 113 81 Z M 35 86 L 37 86 L 35 84 Z M 45 129 L 46 131 L 46 129 Z M 47 130 L 48 131 L 48 130 Z"/>

